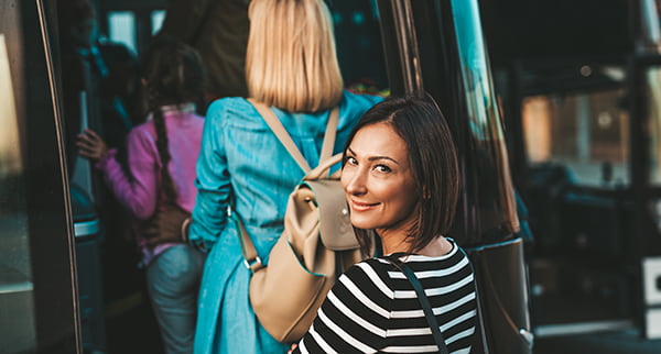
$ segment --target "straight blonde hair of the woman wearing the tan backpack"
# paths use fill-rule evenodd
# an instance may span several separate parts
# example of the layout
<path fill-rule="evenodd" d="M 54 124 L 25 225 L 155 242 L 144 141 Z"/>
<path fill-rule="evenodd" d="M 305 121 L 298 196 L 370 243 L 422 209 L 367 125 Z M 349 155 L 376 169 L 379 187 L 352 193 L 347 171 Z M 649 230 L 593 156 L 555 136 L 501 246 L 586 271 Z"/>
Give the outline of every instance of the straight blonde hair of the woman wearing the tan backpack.
<path fill-rule="evenodd" d="M 253 0 L 246 80 L 251 98 L 290 112 L 336 106 L 344 82 L 322 0 Z"/>

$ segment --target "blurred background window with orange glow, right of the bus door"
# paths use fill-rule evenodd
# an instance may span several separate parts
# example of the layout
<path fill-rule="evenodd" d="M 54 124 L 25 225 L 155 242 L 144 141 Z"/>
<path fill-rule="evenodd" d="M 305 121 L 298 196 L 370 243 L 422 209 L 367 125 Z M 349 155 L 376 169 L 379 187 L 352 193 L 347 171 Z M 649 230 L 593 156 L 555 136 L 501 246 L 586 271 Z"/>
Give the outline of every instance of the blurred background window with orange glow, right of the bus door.
<path fill-rule="evenodd" d="M 586 186 L 629 184 L 629 115 L 624 90 L 523 100 L 525 147 L 532 165 L 560 164 Z"/>

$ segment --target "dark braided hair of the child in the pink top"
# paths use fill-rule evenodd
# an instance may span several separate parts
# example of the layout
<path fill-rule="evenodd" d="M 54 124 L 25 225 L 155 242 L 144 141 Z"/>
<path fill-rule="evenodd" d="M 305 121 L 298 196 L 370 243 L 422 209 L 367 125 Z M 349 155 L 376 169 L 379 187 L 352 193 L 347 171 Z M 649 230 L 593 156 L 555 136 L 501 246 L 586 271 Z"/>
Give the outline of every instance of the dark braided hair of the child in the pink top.
<path fill-rule="evenodd" d="M 167 170 L 170 151 L 163 120 L 163 106 L 199 102 L 204 95 L 204 67 L 197 52 L 173 37 L 153 38 L 142 60 L 147 100 L 156 129 L 156 148 L 161 157 L 161 186 L 165 197 L 176 200 L 176 189 Z"/>

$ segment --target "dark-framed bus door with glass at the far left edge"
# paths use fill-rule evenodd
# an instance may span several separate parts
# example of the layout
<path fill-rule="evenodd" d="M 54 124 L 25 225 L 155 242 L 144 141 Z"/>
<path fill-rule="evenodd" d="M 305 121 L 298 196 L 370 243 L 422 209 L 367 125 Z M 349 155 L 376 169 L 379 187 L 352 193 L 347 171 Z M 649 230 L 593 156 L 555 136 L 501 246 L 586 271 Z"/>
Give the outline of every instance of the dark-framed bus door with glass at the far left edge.
<path fill-rule="evenodd" d="M 51 1 L 0 0 L 0 343 L 80 353 Z"/>

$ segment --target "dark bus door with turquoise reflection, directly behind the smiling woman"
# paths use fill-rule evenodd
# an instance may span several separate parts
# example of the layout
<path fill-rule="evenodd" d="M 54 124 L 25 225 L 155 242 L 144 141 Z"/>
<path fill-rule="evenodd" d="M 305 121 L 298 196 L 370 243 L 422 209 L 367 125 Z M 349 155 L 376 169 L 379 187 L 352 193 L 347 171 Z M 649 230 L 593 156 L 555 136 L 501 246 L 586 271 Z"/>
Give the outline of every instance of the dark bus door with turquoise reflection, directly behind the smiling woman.
<path fill-rule="evenodd" d="M 463 196 L 452 233 L 479 290 L 477 352 L 531 353 L 517 197 L 477 0 L 378 1 L 390 89 L 429 92 L 453 131 Z M 491 269 L 498 269 L 492 272 Z"/>

